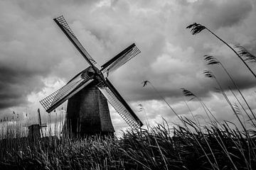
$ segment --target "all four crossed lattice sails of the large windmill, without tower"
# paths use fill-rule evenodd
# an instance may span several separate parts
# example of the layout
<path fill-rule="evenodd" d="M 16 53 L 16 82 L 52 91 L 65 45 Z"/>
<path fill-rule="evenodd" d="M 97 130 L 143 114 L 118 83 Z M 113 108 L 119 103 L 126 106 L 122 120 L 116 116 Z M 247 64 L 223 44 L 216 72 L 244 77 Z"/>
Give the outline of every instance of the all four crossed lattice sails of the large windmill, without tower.
<path fill-rule="evenodd" d="M 127 102 L 122 98 L 118 93 L 117 89 L 110 83 L 110 80 L 107 79 L 107 76 L 110 72 L 113 72 L 115 69 L 118 69 L 123 64 L 131 60 L 133 57 L 139 54 L 140 50 L 133 43 L 129 45 L 122 52 L 119 52 L 118 55 L 113 57 L 111 60 L 106 62 L 101 66 L 101 69 L 97 69 L 95 66 L 96 62 L 90 56 L 90 54 L 85 50 L 81 45 L 78 38 L 76 38 L 73 31 L 68 26 L 68 23 L 65 21 L 63 16 L 53 19 L 59 28 L 65 33 L 68 39 L 73 43 L 76 49 L 80 52 L 82 57 L 85 58 L 90 67 L 82 70 L 68 81 L 68 84 L 63 86 L 58 91 L 55 91 L 50 96 L 44 98 L 40 101 L 41 105 L 46 109 L 48 113 L 55 110 L 60 104 L 64 101 L 74 98 L 75 95 L 78 95 L 82 89 L 86 89 L 93 82 L 97 82 L 95 86 L 101 91 L 101 93 L 107 98 L 107 101 L 113 106 L 113 108 L 121 115 L 124 121 L 134 129 L 142 127 L 143 123 L 137 115 L 132 111 L 132 108 L 129 107 Z M 107 74 L 105 77 L 104 74 Z M 74 96 L 74 97 L 73 97 Z"/>

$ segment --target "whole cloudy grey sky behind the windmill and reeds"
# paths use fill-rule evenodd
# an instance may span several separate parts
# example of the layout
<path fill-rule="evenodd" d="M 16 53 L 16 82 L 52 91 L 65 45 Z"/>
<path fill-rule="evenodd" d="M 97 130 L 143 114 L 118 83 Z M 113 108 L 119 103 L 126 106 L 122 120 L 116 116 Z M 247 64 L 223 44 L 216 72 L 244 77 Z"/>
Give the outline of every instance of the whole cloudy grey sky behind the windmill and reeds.
<path fill-rule="evenodd" d="M 142 51 L 110 74 L 110 81 L 144 123 L 169 123 L 177 118 L 148 84 L 148 80 L 179 115 L 190 116 L 181 88 L 202 98 L 218 120 L 235 121 L 215 81 L 202 72 L 210 69 L 224 89 L 230 81 L 218 66 L 209 67 L 203 55 L 214 55 L 232 74 L 252 108 L 255 78 L 222 42 L 206 30 L 191 35 L 191 23 L 201 23 L 230 45 L 242 45 L 256 54 L 255 0 L 103 0 L 0 1 L 0 118 L 36 117 L 39 101 L 59 89 L 88 66 L 53 18 L 63 15 L 82 45 L 101 66 L 133 42 Z M 250 64 L 256 72 L 255 64 Z M 226 91 L 233 100 L 230 91 Z M 142 104 L 143 111 L 141 106 Z M 63 105 L 65 108 L 66 103 Z M 188 101 L 198 118 L 205 118 L 198 101 Z M 114 128 L 127 125 L 111 108 Z M 55 113 L 51 113 L 55 114 Z M 15 119 L 15 118 L 14 118 Z M 14 121 L 14 120 L 11 120 Z"/>

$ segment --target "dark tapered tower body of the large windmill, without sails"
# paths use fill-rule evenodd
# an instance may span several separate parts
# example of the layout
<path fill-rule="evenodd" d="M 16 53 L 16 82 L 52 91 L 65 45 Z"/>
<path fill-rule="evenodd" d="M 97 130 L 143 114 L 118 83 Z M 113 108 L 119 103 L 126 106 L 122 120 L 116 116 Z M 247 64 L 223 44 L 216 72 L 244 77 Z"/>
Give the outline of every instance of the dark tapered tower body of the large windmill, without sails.
<path fill-rule="evenodd" d="M 68 100 L 66 130 L 71 136 L 112 135 L 114 128 L 107 99 L 92 81 Z"/>

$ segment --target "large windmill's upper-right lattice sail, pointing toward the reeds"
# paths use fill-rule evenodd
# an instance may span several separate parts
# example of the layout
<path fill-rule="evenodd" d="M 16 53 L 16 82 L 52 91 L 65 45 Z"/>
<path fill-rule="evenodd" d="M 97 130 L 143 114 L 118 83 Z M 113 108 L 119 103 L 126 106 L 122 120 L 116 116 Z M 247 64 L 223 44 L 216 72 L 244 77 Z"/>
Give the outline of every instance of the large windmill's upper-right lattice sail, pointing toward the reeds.
<path fill-rule="evenodd" d="M 124 49 L 122 52 L 120 52 L 118 55 L 113 57 L 111 60 L 106 62 L 105 64 L 102 65 L 101 71 L 103 73 L 107 72 L 113 72 L 115 69 L 118 69 L 121 67 L 123 64 L 131 60 L 133 57 L 138 55 L 140 52 L 139 48 L 133 43 L 126 49 Z"/>

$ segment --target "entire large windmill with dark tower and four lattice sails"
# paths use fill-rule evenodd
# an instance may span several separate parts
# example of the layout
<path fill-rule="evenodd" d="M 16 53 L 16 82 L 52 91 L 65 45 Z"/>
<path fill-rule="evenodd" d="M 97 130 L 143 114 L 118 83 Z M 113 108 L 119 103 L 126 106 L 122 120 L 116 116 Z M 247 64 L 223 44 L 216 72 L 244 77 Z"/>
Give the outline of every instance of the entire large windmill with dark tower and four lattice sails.
<path fill-rule="evenodd" d="M 142 127 L 142 121 L 105 77 L 138 55 L 140 51 L 137 46 L 133 43 L 103 64 L 101 69 L 97 69 L 95 60 L 82 47 L 65 18 L 60 16 L 53 20 L 90 64 L 90 67 L 82 70 L 68 81 L 68 84 L 40 101 L 46 111 L 50 113 L 68 100 L 65 128 L 75 137 L 114 133 L 107 101 L 131 128 Z"/>

